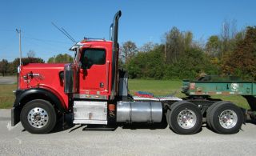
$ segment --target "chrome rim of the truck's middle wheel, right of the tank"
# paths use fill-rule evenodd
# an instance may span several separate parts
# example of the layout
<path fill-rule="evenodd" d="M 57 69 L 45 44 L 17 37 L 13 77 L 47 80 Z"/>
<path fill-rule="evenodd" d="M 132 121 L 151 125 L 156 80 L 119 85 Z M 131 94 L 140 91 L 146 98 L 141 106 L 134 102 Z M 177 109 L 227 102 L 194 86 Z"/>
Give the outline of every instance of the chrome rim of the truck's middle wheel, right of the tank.
<path fill-rule="evenodd" d="M 179 126 L 181 126 L 183 129 L 190 129 L 195 125 L 197 121 L 197 116 L 192 110 L 182 110 L 178 114 L 177 119 Z"/>

